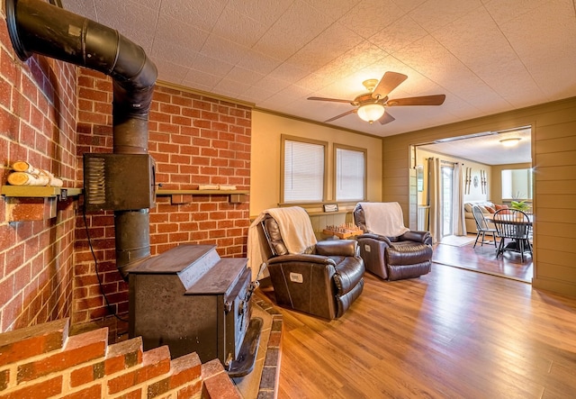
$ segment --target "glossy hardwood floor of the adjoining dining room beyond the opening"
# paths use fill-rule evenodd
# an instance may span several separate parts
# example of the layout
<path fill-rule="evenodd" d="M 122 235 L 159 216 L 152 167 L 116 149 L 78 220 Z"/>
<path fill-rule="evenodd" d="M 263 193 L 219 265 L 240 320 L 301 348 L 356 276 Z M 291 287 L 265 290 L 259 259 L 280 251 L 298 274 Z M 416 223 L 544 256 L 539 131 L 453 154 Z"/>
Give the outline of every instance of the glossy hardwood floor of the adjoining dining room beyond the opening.
<path fill-rule="evenodd" d="M 475 237 L 475 234 L 469 235 Z M 505 252 L 503 256 L 496 258 L 496 249 L 493 244 L 480 244 L 473 248 L 473 242 L 463 247 L 437 244 L 434 247 L 433 260 L 456 268 L 468 268 L 470 270 L 488 273 L 494 276 L 508 277 L 532 282 L 534 265 L 532 257 L 525 254 L 524 262 L 520 255 L 514 252 Z"/>

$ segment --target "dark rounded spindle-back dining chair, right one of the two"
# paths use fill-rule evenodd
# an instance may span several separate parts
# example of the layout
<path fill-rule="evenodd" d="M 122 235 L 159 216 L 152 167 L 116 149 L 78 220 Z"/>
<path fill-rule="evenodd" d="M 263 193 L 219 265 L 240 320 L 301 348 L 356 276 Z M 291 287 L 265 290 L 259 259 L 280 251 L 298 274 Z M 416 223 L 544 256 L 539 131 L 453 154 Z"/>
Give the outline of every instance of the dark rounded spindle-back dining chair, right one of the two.
<path fill-rule="evenodd" d="M 504 256 L 505 250 L 519 252 L 523 262 L 525 252 L 532 255 L 530 243 L 532 222 L 526 213 L 516 209 L 500 209 L 494 213 L 493 222 L 500 237 L 496 258 Z M 508 244 L 506 240 L 509 240 Z"/>

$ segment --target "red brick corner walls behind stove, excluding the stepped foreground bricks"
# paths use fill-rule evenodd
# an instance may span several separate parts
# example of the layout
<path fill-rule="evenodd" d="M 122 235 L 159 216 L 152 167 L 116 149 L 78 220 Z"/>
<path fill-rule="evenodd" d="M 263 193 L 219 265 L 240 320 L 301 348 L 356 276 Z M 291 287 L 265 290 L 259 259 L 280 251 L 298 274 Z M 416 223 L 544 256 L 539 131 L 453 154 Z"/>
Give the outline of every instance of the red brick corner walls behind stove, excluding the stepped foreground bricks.
<path fill-rule="evenodd" d="M 247 190 L 250 126 L 245 106 L 158 86 L 149 121 L 157 182 L 164 189 L 226 184 Z M 22 62 L 0 24 L 0 183 L 11 163 L 24 159 L 61 177 L 67 187 L 81 187 L 86 151 L 112 152 L 111 78 L 40 56 Z M 5 222 L 5 204 L 0 196 L 0 331 L 109 315 L 81 201 L 60 203 L 56 218 L 37 222 Z M 150 211 L 151 252 L 182 242 L 211 243 L 221 257 L 244 257 L 248 209 L 248 203 L 229 204 L 227 195 L 197 195 L 183 204 L 158 196 Z M 112 312 L 125 314 L 128 293 L 115 268 L 113 214 L 91 213 L 86 222 L 103 291 Z"/>

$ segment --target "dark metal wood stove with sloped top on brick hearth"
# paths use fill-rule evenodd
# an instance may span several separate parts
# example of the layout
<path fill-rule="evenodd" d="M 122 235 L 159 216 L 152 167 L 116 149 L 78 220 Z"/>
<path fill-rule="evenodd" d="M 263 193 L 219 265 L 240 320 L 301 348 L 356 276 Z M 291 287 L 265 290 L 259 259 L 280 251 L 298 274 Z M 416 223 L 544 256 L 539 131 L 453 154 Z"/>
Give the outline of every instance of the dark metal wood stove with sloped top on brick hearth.
<path fill-rule="evenodd" d="M 220 258 L 213 245 L 180 245 L 130 270 L 130 338 L 167 345 L 172 358 L 219 358 L 229 376 L 254 367 L 262 320 L 251 319 L 247 258 Z"/>

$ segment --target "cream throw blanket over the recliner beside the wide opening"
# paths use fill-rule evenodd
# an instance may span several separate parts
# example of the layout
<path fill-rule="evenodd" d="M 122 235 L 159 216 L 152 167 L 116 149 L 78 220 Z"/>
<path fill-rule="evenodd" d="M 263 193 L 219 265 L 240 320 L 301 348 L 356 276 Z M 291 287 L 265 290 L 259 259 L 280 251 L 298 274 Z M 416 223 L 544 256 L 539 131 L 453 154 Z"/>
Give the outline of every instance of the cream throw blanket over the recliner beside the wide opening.
<path fill-rule="evenodd" d="M 366 229 L 385 237 L 398 237 L 406 231 L 402 208 L 398 203 L 359 203 L 364 210 Z"/>

